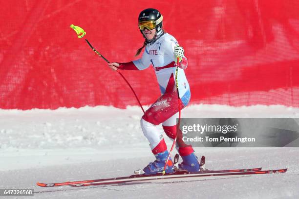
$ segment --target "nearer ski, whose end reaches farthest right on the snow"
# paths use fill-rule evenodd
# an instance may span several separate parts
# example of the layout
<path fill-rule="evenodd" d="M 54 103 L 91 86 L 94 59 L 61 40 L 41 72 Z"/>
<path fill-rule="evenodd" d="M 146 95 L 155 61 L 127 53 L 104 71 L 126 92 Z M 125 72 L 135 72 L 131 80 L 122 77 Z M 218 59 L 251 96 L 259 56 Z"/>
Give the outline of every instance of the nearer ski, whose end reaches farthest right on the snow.
<path fill-rule="evenodd" d="M 250 171 L 250 172 L 231 172 L 231 173 L 205 173 L 205 172 L 175 172 L 171 174 L 159 175 L 142 175 L 142 177 L 132 177 L 129 179 L 112 179 L 105 180 L 102 182 L 86 183 L 86 184 L 75 184 L 70 185 L 73 187 L 81 186 L 96 186 L 96 185 L 110 185 L 110 184 L 123 184 L 126 182 L 141 182 L 141 181 L 152 181 L 158 179 L 186 179 L 186 178 L 196 178 L 197 180 L 207 180 L 207 179 L 227 179 L 227 178 L 240 178 L 251 175 L 259 174 L 278 174 L 285 173 L 287 169 L 277 169 L 277 170 L 265 170 L 265 171 Z"/>

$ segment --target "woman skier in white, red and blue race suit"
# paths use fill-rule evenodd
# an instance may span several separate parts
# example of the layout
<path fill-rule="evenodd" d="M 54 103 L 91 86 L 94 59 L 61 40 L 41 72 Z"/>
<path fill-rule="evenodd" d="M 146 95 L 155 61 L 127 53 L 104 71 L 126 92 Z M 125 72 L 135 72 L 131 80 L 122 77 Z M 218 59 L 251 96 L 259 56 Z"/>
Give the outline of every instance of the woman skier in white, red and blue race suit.
<path fill-rule="evenodd" d="M 178 103 L 181 109 L 187 106 L 191 93 L 189 83 L 186 79 L 184 69 L 187 67 L 187 59 L 184 49 L 170 34 L 165 33 L 162 28 L 163 17 L 161 13 L 153 8 L 143 10 L 138 17 L 139 29 L 145 38 L 144 45 L 138 49 L 136 56 L 145 47 L 145 51 L 139 60 L 127 63 L 108 63 L 112 70 L 144 70 L 151 64 L 160 86 L 162 96 L 158 98 L 142 116 L 141 128 L 145 137 L 149 140 L 152 153 L 156 160 L 150 162 L 143 171 L 145 174 L 156 174 L 162 172 L 168 158 L 169 152 L 163 136 L 156 128 L 162 123 L 166 135 L 175 139 L 176 118 L 178 118 Z M 178 68 L 178 90 L 179 98 L 174 80 L 176 60 L 179 58 Z M 178 152 L 183 159 L 179 168 L 190 172 L 199 171 L 200 165 L 194 154 L 192 146 L 178 146 Z M 167 162 L 166 173 L 173 172 L 173 162 Z"/>

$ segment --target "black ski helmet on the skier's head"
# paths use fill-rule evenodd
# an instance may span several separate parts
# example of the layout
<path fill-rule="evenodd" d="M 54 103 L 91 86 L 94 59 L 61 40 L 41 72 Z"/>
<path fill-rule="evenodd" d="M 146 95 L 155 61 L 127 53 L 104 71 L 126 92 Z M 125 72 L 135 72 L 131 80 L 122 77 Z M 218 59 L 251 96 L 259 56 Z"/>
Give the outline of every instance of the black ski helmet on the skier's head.
<path fill-rule="evenodd" d="M 154 8 L 147 8 L 143 11 L 140 12 L 139 17 L 138 17 L 138 24 L 141 21 L 147 21 L 147 20 L 154 20 L 156 23 L 156 36 L 160 36 L 163 33 L 162 30 L 162 20 L 163 20 L 163 16 L 161 15 L 161 13 Z M 140 32 L 142 33 L 142 30 L 140 30 Z"/>

